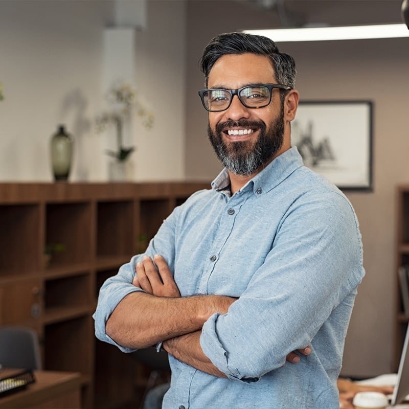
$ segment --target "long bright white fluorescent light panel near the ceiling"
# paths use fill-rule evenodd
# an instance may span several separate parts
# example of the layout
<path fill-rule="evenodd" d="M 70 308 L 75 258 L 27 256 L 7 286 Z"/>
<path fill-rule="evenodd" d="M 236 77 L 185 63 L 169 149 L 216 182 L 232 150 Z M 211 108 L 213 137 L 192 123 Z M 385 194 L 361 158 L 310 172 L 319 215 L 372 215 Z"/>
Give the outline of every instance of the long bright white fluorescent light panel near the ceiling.
<path fill-rule="evenodd" d="M 381 24 L 372 26 L 304 27 L 296 29 L 244 30 L 259 34 L 275 42 L 358 40 L 368 38 L 409 37 L 405 24 Z"/>

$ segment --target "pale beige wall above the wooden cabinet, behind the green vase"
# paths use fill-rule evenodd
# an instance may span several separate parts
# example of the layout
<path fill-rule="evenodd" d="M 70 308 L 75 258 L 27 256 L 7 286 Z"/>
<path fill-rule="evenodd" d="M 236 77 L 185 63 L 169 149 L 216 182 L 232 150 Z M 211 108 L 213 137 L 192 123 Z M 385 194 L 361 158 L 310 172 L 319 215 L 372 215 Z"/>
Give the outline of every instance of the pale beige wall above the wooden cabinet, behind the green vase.
<path fill-rule="evenodd" d="M 0 1 L 0 180 L 51 181 L 49 142 L 60 123 L 75 138 L 70 179 L 107 179 L 115 135 L 98 134 L 95 118 L 115 11 L 112 1 Z M 185 14 L 184 2 L 149 2 L 146 29 L 135 31 L 137 86 L 156 114 L 153 129 L 135 126 L 137 180 L 184 177 Z"/>

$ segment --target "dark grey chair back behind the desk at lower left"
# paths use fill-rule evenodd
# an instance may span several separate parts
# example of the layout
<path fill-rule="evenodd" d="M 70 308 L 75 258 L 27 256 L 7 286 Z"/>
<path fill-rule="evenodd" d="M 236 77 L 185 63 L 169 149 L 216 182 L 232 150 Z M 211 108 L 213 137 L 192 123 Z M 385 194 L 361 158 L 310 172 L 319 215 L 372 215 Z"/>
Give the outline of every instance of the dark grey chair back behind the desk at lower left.
<path fill-rule="evenodd" d="M 8 368 L 41 369 L 37 333 L 24 327 L 0 327 L 0 364 Z"/>

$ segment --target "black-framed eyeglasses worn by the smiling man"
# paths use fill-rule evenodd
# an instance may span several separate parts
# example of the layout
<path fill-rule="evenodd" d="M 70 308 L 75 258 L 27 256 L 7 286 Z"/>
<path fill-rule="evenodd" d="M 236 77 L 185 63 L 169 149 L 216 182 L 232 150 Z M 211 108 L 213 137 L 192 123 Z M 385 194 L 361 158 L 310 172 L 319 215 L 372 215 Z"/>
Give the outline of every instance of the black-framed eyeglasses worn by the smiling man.
<path fill-rule="evenodd" d="M 210 112 L 220 112 L 228 109 L 234 95 L 237 95 L 246 108 L 262 108 L 270 103 L 273 88 L 281 88 L 287 91 L 291 89 L 290 86 L 282 84 L 255 84 L 237 89 L 202 89 L 199 91 L 199 96 L 205 109 Z"/>

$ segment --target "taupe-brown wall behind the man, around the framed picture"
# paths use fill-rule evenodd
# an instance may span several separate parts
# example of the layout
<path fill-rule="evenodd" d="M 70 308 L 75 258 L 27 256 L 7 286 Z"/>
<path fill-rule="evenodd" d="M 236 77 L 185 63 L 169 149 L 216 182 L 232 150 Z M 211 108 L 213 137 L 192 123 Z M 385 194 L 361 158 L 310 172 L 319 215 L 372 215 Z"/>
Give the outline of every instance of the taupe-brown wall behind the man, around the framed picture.
<path fill-rule="evenodd" d="M 312 3 L 320 2 L 304 2 L 308 6 Z M 311 6 L 311 15 L 304 17 L 315 21 L 337 20 L 334 24 L 341 21 L 346 24 L 348 18 L 353 18 L 355 24 L 400 22 L 400 3 L 321 2 L 325 7 Z M 197 96 L 197 90 L 203 88 L 203 78 L 197 68 L 201 51 L 210 38 L 219 33 L 274 24 L 272 13 L 244 3 L 232 7 L 234 2 L 220 1 L 217 13 L 211 4 L 188 3 L 186 173 L 202 178 L 212 178 L 220 166 L 207 141 L 207 115 Z M 369 13 L 369 8 L 373 12 Z M 343 373 L 356 377 L 389 373 L 393 370 L 396 302 L 395 186 L 409 181 L 406 117 L 409 55 L 405 51 L 409 38 L 279 45 L 296 59 L 297 88 L 302 99 L 373 101 L 374 189 L 373 192 L 346 192 L 360 221 L 367 275 L 356 298 Z M 353 145 L 350 149 L 354 149 Z"/>

